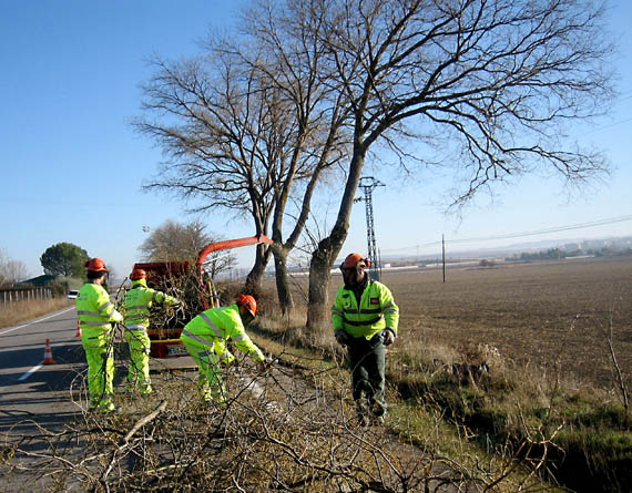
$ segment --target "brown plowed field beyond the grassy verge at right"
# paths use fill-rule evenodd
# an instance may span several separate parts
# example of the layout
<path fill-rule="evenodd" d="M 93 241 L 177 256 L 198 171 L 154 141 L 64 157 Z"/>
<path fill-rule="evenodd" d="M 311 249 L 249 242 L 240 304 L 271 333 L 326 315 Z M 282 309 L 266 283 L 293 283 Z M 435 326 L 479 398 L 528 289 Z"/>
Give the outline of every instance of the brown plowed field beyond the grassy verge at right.
<path fill-rule="evenodd" d="M 487 343 L 521 363 L 610 388 L 605 331 L 632 374 L 632 258 L 585 258 L 492 268 L 385 270 L 408 338 L 451 347 Z M 333 285 L 339 283 L 335 276 Z"/>

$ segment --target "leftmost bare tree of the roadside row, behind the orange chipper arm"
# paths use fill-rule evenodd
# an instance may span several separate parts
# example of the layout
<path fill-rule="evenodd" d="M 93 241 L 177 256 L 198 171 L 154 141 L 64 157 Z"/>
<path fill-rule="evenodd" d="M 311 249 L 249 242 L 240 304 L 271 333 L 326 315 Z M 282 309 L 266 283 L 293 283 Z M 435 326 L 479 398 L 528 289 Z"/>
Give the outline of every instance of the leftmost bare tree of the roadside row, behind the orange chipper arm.
<path fill-rule="evenodd" d="M 153 63 L 156 73 L 143 88 L 143 110 L 155 119 L 137 120 L 135 126 L 159 142 L 167 162 L 145 188 L 196 201 L 195 212 L 249 214 L 255 235 L 266 234 L 275 197 L 262 142 L 269 124 L 266 94 L 255 93 L 256 79 L 213 52 L 206 59 Z M 261 285 L 269 254 L 267 246 L 257 246 L 249 290 Z"/>

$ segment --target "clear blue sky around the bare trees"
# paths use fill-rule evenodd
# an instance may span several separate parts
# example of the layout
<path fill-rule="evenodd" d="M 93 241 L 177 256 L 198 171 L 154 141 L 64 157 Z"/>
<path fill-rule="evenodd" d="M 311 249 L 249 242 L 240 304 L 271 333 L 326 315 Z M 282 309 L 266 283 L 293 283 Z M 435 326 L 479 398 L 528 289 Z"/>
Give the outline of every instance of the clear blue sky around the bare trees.
<path fill-rule="evenodd" d="M 182 203 L 141 191 L 162 160 L 135 134 L 140 84 L 153 54 L 175 59 L 198 51 L 211 27 L 228 27 L 242 2 L 220 0 L 52 1 L 0 0 L 0 248 L 41 274 L 51 245 L 74 243 L 105 259 L 123 277 L 137 247 L 166 219 L 188 222 Z M 482 238 L 632 217 L 632 2 L 613 1 L 609 24 L 620 40 L 621 96 L 608 117 L 578 130 L 578 137 L 606 151 L 614 172 L 599 187 L 567 196 L 550 176 L 526 176 L 478 197 L 461 217 L 444 214 L 445 179 L 396 179 L 374 192 L 383 255 L 437 250 L 440 240 Z M 329 207 L 337 207 L 332 204 Z M 248 222 L 223 213 L 201 218 L 225 238 L 251 236 Z M 332 222 L 329 222 L 332 224 Z M 632 220 L 528 237 L 574 238 L 632 234 Z M 517 243 L 521 238 L 459 244 L 459 249 Z M 344 251 L 366 251 L 364 203 L 351 217 Z M 252 251 L 239 254 L 246 267 Z"/>

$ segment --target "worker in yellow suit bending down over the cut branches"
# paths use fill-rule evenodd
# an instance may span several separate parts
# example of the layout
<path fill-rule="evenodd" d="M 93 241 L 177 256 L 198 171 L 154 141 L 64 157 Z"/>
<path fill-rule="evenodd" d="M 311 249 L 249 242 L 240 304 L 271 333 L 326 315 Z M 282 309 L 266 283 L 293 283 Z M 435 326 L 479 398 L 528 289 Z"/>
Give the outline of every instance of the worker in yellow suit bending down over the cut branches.
<path fill-rule="evenodd" d="M 234 359 L 226 349 L 226 340 L 232 339 L 237 349 L 257 361 L 259 370 L 269 369 L 265 356 L 245 330 L 256 312 L 255 299 L 249 295 L 239 295 L 234 305 L 211 308 L 184 326 L 180 339 L 200 367 L 197 389 L 205 401 L 226 400 L 220 362 Z"/>

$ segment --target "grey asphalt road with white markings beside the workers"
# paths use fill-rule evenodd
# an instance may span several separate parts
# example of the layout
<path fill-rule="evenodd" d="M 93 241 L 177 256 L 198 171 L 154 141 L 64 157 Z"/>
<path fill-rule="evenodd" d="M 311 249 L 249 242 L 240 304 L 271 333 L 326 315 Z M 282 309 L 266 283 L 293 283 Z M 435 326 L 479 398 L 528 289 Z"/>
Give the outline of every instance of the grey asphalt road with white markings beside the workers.
<path fill-rule="evenodd" d="M 44 364 L 47 339 L 53 363 Z M 124 391 L 128 367 L 126 342 L 115 343 L 115 393 Z M 191 357 L 152 359 L 152 379 L 171 370 L 191 371 Z M 54 469 L 53 455 L 80 461 L 84 442 L 69 440 L 69 429 L 90 429 L 84 388 L 85 353 L 77 337 L 74 306 L 35 320 L 0 329 L 0 492 L 52 491 L 44 464 Z M 157 383 L 157 382 L 156 382 Z M 114 398 L 116 401 L 116 397 Z M 81 424 L 83 423 L 83 424 Z M 13 450 L 17 450 L 16 454 Z M 9 459 L 4 462 L 4 459 Z M 68 468 L 68 463 L 61 462 Z M 77 479 L 64 491 L 84 491 Z M 55 490 L 57 491 L 57 490 Z"/>

